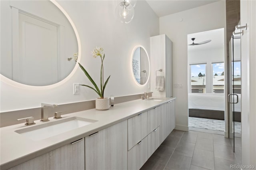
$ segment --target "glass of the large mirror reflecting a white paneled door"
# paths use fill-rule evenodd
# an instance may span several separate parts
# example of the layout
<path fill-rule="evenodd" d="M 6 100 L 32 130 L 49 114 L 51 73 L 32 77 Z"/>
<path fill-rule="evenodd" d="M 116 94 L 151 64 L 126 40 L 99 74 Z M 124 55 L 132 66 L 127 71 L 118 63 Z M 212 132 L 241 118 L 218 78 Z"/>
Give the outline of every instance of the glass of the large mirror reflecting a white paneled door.
<path fill-rule="evenodd" d="M 1 69 L 32 86 L 65 79 L 74 69 L 78 41 L 72 25 L 51 1 L 6 0 L 1 8 Z"/>

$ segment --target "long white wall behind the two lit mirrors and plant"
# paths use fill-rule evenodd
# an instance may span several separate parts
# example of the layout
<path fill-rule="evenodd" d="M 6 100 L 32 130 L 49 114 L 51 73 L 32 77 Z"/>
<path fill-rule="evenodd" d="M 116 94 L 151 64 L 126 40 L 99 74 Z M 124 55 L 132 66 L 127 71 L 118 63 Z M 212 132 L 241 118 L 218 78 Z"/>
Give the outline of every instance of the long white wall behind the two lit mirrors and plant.
<path fill-rule="evenodd" d="M 146 1 L 137 1 L 134 18 L 129 24 L 117 19 L 115 9 L 118 1 L 68 0 L 58 3 L 69 14 L 78 30 L 82 45 L 80 63 L 96 83 L 100 80 L 100 59 L 93 58 L 90 51 L 96 46 L 104 48 L 104 75 L 111 75 L 105 91 L 106 97 L 148 91 L 148 85 L 140 87 L 134 82 L 130 63 L 136 45 L 143 45 L 150 55 L 150 37 L 159 35 L 159 18 Z M 1 80 L 0 110 L 5 112 L 40 107 L 41 103 L 74 103 L 97 97 L 94 91 L 86 87 L 80 87 L 80 94 L 73 95 L 73 83 L 90 85 L 80 68 L 64 84 L 47 90 L 16 87 Z"/>

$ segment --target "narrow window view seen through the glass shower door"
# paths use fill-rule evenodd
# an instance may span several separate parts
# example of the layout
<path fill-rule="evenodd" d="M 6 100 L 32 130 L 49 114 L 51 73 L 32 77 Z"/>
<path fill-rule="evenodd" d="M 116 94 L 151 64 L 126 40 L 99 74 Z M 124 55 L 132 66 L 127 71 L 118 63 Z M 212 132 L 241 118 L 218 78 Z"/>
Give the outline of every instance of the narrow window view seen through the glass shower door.
<path fill-rule="evenodd" d="M 234 93 L 241 94 L 241 61 L 232 62 L 232 68 L 232 85 L 234 85 Z"/>

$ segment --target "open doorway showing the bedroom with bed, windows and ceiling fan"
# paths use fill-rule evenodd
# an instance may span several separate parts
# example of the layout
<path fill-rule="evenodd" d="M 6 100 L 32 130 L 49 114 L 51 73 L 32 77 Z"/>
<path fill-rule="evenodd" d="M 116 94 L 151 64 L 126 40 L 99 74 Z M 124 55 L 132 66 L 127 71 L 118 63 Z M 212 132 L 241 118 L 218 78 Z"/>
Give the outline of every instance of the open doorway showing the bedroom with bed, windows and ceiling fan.
<path fill-rule="evenodd" d="M 224 28 L 187 37 L 189 129 L 224 134 Z"/>

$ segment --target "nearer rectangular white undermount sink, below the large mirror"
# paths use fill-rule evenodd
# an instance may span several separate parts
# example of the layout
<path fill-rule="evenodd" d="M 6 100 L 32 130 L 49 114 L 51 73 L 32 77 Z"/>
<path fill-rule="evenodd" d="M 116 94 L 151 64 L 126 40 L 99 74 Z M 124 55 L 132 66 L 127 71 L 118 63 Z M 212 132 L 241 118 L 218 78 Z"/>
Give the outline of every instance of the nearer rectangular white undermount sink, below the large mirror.
<path fill-rule="evenodd" d="M 15 132 L 32 140 L 43 140 L 57 134 L 90 125 L 94 122 L 97 121 L 82 117 L 70 117 L 67 119 L 53 121 L 38 126 L 16 130 Z"/>

